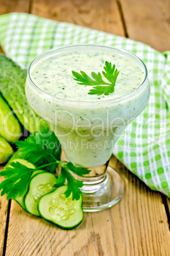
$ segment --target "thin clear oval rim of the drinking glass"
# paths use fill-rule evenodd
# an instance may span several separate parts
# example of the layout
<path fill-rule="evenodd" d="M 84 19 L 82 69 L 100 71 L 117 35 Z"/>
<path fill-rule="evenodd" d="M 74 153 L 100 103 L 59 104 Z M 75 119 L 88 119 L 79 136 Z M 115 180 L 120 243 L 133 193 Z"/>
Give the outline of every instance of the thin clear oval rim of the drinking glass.
<path fill-rule="evenodd" d="M 34 83 L 32 81 L 32 78 L 30 76 L 30 69 L 32 68 L 32 66 L 34 66 L 34 62 L 36 62 L 36 60 L 43 58 L 43 56 L 47 55 L 48 53 L 53 53 L 53 52 L 58 52 L 62 49 L 67 49 L 67 48 L 74 48 L 74 47 L 86 47 L 86 46 L 92 46 L 92 47 L 100 47 L 100 48 L 108 48 L 110 50 L 115 50 L 117 52 L 119 52 L 119 54 L 122 54 L 125 56 L 125 54 L 123 53 L 126 53 L 128 54 L 129 56 L 131 57 L 134 57 L 136 60 L 140 61 L 140 63 L 142 64 L 143 68 L 144 68 L 144 71 L 145 71 L 145 78 L 143 80 L 143 82 L 136 88 L 134 89 L 132 92 L 129 92 L 129 94 L 126 94 L 124 96 L 121 96 L 121 97 L 116 97 L 114 99 L 105 99 L 105 100 L 102 100 L 102 101 L 98 101 L 98 100 L 95 100 L 95 101 L 77 101 L 75 99 L 65 99 L 63 97 L 57 97 L 57 96 L 53 96 L 51 94 L 49 94 L 48 92 L 45 92 L 44 90 L 40 89 L 36 83 Z M 54 54 L 55 55 L 55 54 Z M 125 56 L 127 57 L 127 56 Z M 48 58 L 48 57 L 47 57 Z M 45 59 L 45 58 L 44 58 Z M 51 49 L 51 50 L 48 50 L 46 52 L 43 52 L 39 55 L 37 55 L 37 57 L 32 60 L 32 62 L 30 63 L 29 65 L 29 69 L 27 71 L 27 78 L 29 79 L 29 82 L 30 84 L 32 85 L 32 87 L 34 87 L 36 90 L 38 90 L 39 92 L 41 92 L 41 94 L 44 94 L 45 97 L 49 98 L 49 99 L 54 99 L 55 101 L 58 100 L 58 101 L 63 101 L 63 102 L 70 102 L 70 103 L 82 103 L 82 104 L 93 104 L 93 103 L 98 103 L 98 104 L 105 104 L 105 103 L 110 103 L 110 102 L 117 102 L 117 101 L 122 101 L 124 99 L 126 99 L 127 97 L 129 96 L 133 96 L 134 94 L 136 94 L 138 92 L 138 90 L 141 90 L 143 87 L 145 87 L 145 82 L 147 81 L 147 78 L 148 78 L 148 71 L 147 71 L 147 67 L 145 66 L 145 63 L 138 57 L 136 56 L 134 53 L 131 53 L 131 52 L 128 52 L 127 50 L 124 50 L 124 49 L 120 49 L 120 48 L 115 48 L 115 47 L 112 47 L 112 46 L 105 46 L 105 45 L 93 45 L 93 44 L 84 44 L 84 45 L 69 45 L 69 46 L 60 46 L 58 48 L 54 48 L 54 49 Z"/>

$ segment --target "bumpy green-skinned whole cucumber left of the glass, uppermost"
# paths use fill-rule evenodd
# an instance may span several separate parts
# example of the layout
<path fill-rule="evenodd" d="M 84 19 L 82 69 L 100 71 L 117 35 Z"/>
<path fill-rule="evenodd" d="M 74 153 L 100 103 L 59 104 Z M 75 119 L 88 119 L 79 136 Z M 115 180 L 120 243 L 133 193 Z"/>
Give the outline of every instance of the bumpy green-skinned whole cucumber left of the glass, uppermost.
<path fill-rule="evenodd" d="M 0 91 L 27 131 L 35 132 L 39 125 L 48 125 L 29 106 L 25 97 L 27 73 L 3 54 L 0 54 Z"/>

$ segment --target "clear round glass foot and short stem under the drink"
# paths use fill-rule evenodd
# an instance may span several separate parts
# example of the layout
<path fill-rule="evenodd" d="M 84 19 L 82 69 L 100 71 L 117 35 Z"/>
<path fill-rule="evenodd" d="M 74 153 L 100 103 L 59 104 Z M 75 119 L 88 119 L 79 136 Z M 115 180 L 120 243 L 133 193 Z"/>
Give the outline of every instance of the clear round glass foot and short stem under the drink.
<path fill-rule="evenodd" d="M 98 177 L 99 178 L 99 177 Z M 98 180 L 86 182 L 81 188 L 83 211 L 101 211 L 114 206 L 124 193 L 124 181 L 112 167 Z"/>

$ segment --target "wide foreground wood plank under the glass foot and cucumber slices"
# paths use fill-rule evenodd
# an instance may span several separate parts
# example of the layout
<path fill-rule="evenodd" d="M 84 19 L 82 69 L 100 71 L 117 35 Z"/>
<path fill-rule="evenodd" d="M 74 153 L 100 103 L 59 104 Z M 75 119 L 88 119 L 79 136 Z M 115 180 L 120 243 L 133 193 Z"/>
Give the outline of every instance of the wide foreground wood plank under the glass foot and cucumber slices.
<path fill-rule="evenodd" d="M 126 183 L 109 210 L 85 213 L 82 224 L 62 231 L 11 204 L 6 255 L 168 255 L 169 229 L 159 193 L 147 188 L 112 157 Z"/>

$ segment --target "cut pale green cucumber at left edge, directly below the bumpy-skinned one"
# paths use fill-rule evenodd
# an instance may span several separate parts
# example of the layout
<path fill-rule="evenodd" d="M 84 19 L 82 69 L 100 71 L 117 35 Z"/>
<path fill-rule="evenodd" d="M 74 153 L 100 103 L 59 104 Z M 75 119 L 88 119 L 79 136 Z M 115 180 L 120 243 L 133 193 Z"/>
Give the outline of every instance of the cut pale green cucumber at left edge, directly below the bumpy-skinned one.
<path fill-rule="evenodd" d="M 8 104 L 0 95 L 0 135 L 10 143 L 18 141 L 22 135 L 22 129 Z"/>

